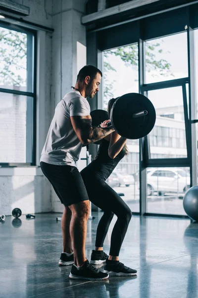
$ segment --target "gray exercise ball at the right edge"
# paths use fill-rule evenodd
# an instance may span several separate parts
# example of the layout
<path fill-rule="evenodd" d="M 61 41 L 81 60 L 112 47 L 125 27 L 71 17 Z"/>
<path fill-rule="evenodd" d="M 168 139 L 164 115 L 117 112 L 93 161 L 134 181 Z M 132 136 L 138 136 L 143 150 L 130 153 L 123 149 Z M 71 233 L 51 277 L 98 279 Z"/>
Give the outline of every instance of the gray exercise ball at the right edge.
<path fill-rule="evenodd" d="M 198 221 L 198 186 L 191 187 L 185 194 L 183 206 L 186 214 L 194 221 Z"/>

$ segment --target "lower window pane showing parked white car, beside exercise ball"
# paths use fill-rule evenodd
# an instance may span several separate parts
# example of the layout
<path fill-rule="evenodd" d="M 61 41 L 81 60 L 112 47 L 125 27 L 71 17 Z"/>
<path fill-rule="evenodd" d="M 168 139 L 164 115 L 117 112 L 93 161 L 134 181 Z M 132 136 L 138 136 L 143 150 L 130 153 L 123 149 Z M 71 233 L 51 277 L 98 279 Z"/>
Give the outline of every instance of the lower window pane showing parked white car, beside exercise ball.
<path fill-rule="evenodd" d="M 186 215 L 183 198 L 190 188 L 190 168 L 147 169 L 147 212 Z"/>

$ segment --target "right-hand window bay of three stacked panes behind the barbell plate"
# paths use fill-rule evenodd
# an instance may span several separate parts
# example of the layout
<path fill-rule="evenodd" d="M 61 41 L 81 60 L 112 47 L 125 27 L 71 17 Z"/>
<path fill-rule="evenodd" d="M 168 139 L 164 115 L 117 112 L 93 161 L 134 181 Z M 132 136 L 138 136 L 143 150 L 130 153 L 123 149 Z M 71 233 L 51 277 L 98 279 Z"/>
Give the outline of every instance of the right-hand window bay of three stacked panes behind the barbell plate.
<path fill-rule="evenodd" d="M 150 158 L 187 158 L 187 32 L 147 41 L 145 47 L 146 51 L 152 49 L 155 55 L 155 58 L 147 57 L 146 52 L 147 84 L 144 91 L 156 111 L 155 126 L 148 138 Z M 187 137 L 188 134 L 189 131 Z M 171 167 L 171 161 L 169 165 L 147 168 L 147 212 L 186 215 L 183 198 L 190 187 L 190 168 Z"/>

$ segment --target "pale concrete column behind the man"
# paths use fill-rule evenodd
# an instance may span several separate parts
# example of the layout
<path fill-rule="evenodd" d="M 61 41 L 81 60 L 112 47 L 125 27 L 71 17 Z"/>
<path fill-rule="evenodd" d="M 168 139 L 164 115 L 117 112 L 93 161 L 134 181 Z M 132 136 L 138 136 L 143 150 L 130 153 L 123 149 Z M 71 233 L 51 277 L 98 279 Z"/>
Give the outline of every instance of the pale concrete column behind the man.
<path fill-rule="evenodd" d="M 86 27 L 81 24 L 86 0 L 53 0 L 51 114 L 63 96 L 75 85 L 79 70 L 86 61 Z M 81 157 L 86 156 L 85 148 Z M 79 159 L 79 170 L 86 162 Z M 52 190 L 52 210 L 62 212 L 63 206 Z"/>

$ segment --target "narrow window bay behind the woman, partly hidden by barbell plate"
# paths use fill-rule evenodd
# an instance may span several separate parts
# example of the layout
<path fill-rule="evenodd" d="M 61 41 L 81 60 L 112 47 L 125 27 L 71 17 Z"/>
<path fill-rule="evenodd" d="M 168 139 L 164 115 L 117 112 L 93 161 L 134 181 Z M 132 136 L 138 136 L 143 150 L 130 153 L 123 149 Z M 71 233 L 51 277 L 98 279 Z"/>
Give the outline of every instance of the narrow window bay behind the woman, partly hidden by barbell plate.
<path fill-rule="evenodd" d="M 103 52 L 103 107 L 109 99 L 126 93 L 139 92 L 138 44 Z M 127 140 L 128 154 L 119 162 L 107 183 L 127 202 L 133 212 L 139 212 L 139 140 Z"/>

